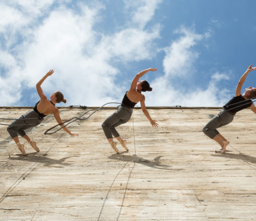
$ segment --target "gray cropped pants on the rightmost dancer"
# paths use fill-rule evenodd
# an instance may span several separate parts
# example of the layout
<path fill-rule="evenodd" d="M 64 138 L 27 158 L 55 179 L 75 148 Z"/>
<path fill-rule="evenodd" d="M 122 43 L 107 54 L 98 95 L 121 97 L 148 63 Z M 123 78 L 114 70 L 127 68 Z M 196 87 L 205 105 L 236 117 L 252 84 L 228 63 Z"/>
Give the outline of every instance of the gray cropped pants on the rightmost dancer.
<path fill-rule="evenodd" d="M 213 117 L 203 128 L 203 133 L 209 136 L 209 138 L 214 138 L 219 132 L 216 128 L 225 126 L 233 121 L 235 114 L 232 114 L 230 111 L 221 110 L 215 117 Z"/>

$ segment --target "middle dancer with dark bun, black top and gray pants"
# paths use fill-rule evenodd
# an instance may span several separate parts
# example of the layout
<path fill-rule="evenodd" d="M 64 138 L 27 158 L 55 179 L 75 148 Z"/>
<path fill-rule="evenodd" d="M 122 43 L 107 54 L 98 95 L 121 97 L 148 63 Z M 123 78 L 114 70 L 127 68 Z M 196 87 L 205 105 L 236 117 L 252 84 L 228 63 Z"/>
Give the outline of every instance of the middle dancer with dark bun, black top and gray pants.
<path fill-rule="evenodd" d="M 106 135 L 106 138 L 109 144 L 111 145 L 111 147 L 116 151 L 117 154 L 119 153 L 119 151 L 116 148 L 116 142 L 113 141 L 112 134 L 116 137 L 116 139 L 120 142 L 120 144 L 128 151 L 128 148 L 126 146 L 126 140 L 123 140 L 123 138 L 119 135 L 119 133 L 116 131 L 116 127 L 119 126 L 120 124 L 123 124 L 129 121 L 132 115 L 132 110 L 139 101 L 140 101 L 140 106 L 143 113 L 151 122 L 152 126 L 153 127 L 158 126 L 158 123 L 155 120 L 151 119 L 149 112 L 146 110 L 145 96 L 141 94 L 141 91 L 143 92 L 151 91 L 152 88 L 150 87 L 149 83 L 146 80 L 139 81 L 140 77 L 142 77 L 147 72 L 156 71 L 156 70 L 157 70 L 156 68 L 149 68 L 137 74 L 131 83 L 130 89 L 125 93 L 125 96 L 122 100 L 122 105 L 118 106 L 117 111 L 112 115 L 110 115 L 102 123 L 102 128 Z"/>

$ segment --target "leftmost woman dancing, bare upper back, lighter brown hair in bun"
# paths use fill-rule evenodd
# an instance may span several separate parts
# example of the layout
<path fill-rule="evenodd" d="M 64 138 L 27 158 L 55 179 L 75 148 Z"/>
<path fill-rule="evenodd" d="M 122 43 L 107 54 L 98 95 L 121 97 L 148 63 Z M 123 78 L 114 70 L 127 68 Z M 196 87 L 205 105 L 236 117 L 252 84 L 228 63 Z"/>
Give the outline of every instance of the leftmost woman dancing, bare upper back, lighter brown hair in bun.
<path fill-rule="evenodd" d="M 39 152 L 39 148 L 36 146 L 35 141 L 32 141 L 29 136 L 26 135 L 24 130 L 35 127 L 44 120 L 44 117 L 49 114 L 54 114 L 54 117 L 58 123 L 62 122 L 59 116 L 58 108 L 55 107 L 55 104 L 60 103 L 61 101 L 66 103 L 66 99 L 64 99 L 63 94 L 60 91 L 55 91 L 51 94 L 50 100 L 48 100 L 41 88 L 41 84 L 48 76 L 51 76 L 53 72 L 54 70 L 50 70 L 36 84 L 36 90 L 40 100 L 35 104 L 35 108 L 33 110 L 29 110 L 19 118 L 23 120 L 15 120 L 7 128 L 8 133 L 11 135 L 12 139 L 15 141 L 16 145 L 24 156 L 26 155 L 24 144 L 20 143 L 18 134 L 21 135 L 35 149 L 35 151 Z M 60 124 L 60 126 L 62 127 L 64 124 Z M 78 136 L 77 133 L 71 133 L 66 127 L 63 127 L 62 129 L 69 133 L 71 136 Z"/>

